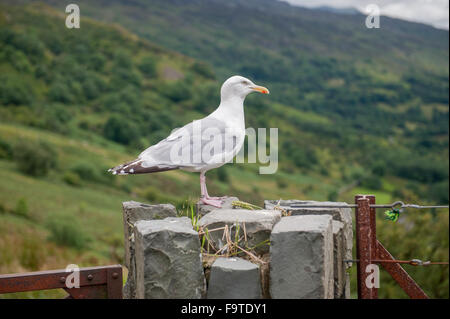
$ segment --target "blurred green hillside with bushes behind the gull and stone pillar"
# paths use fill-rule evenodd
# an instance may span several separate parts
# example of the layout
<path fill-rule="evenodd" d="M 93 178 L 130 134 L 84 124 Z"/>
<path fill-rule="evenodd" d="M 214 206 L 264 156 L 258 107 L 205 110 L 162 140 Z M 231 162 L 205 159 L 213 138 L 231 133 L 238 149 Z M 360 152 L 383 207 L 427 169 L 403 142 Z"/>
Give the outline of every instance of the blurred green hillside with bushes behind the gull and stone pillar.
<path fill-rule="evenodd" d="M 69 30 L 61 8 L 6 2 L 0 273 L 122 262 L 121 202 L 182 207 L 198 196 L 198 176 L 113 177 L 106 168 L 211 112 L 234 73 L 271 90 L 247 100 L 246 122 L 279 128 L 279 171 L 226 165 L 208 174 L 211 194 L 259 205 L 265 198 L 352 201 L 355 193 L 448 202 L 448 33 L 387 19 L 389 36 L 368 36 L 356 28 L 358 16 L 271 1 L 255 8 L 253 1 L 172 0 L 80 1 L 82 27 Z M 326 21 L 338 26 L 334 33 Z M 385 46 L 383 54 L 371 43 Z M 380 221 L 381 240 L 399 258 L 448 260 L 448 214 Z M 413 274 L 430 295 L 448 297 L 447 269 Z M 382 280 L 383 296 L 403 297 Z"/>

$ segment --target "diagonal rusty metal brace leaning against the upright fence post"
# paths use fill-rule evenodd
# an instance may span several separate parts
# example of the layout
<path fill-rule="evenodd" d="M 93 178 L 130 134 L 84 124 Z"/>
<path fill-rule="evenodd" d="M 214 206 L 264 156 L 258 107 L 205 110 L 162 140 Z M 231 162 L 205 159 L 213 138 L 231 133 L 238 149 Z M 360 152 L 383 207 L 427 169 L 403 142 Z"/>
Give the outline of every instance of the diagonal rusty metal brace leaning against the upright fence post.
<path fill-rule="evenodd" d="M 395 260 L 394 257 L 377 240 L 378 258 L 381 260 Z M 391 275 L 399 286 L 408 294 L 411 299 L 428 299 L 427 294 L 419 285 L 408 275 L 406 270 L 398 263 L 380 262 L 381 266 Z"/>

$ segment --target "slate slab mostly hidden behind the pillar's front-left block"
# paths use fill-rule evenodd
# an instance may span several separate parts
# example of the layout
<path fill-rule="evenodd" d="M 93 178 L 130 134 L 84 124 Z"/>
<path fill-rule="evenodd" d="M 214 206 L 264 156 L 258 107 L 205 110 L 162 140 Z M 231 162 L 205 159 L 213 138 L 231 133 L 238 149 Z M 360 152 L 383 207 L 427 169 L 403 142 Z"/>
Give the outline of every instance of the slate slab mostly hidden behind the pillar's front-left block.
<path fill-rule="evenodd" d="M 134 224 L 138 220 L 162 219 L 175 217 L 177 211 L 171 204 L 149 205 L 135 201 L 123 202 L 123 225 L 125 266 L 128 268 L 127 282 L 123 288 L 124 299 L 136 297 L 136 272 L 134 260 Z"/>

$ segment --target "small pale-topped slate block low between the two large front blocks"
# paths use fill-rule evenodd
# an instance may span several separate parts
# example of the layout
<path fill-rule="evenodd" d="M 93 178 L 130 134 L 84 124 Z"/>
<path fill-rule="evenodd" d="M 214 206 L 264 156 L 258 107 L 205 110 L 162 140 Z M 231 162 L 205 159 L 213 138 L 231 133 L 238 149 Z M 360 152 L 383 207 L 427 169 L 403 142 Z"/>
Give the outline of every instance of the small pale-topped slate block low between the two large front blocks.
<path fill-rule="evenodd" d="M 259 267 L 242 258 L 218 258 L 211 266 L 208 299 L 260 299 Z"/>

